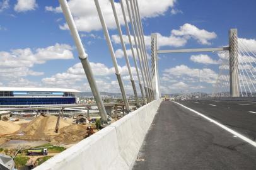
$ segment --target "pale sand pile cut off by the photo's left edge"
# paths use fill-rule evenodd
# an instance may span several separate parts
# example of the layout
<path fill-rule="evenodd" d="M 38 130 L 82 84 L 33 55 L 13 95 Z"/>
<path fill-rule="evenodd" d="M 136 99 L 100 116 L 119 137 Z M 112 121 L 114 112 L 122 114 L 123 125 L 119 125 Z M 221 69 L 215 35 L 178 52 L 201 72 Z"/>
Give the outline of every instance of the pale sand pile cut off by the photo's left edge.
<path fill-rule="evenodd" d="M 20 130 L 20 125 L 16 125 L 11 121 L 0 120 L 0 136 L 15 133 Z"/>

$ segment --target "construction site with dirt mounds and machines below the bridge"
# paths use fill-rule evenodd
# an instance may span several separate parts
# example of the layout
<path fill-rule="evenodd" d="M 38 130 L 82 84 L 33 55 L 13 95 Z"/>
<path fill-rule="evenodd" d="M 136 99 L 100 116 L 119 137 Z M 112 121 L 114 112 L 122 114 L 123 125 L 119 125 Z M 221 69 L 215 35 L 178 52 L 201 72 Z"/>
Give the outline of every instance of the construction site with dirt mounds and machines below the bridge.
<path fill-rule="evenodd" d="M 112 108 L 108 123 L 125 115 L 123 106 Z M 47 111 L 36 115 L 14 112 L 2 116 L 0 157 L 12 158 L 16 169 L 33 169 L 103 128 L 98 110 L 91 108 L 90 111 L 77 111 L 73 114 L 63 110 L 58 114 Z"/>

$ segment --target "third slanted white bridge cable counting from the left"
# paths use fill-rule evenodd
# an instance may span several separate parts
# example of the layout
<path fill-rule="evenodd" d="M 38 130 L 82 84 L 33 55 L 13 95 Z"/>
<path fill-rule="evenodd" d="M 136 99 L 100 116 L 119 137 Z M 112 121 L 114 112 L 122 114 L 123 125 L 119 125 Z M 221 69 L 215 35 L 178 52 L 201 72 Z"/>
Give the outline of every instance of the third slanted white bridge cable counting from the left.
<path fill-rule="evenodd" d="M 135 86 L 135 83 L 134 83 L 134 78 L 132 76 L 131 65 L 130 65 L 129 58 L 128 58 L 127 51 L 126 51 L 126 47 L 125 47 L 125 44 L 124 44 L 124 38 L 123 38 L 123 35 L 122 35 L 121 26 L 120 26 L 120 23 L 119 23 L 119 19 L 117 17 L 117 11 L 115 10 L 115 3 L 113 2 L 113 0 L 110 0 L 110 3 L 111 3 L 111 6 L 112 6 L 112 9 L 113 9 L 113 15 L 115 16 L 115 23 L 117 25 L 117 30 L 119 31 L 120 42 L 121 42 L 122 49 L 123 49 L 123 52 L 124 52 L 124 58 L 125 58 L 125 62 L 126 62 L 126 65 L 127 65 L 127 69 L 128 69 L 129 75 L 130 75 L 131 82 L 132 82 L 132 89 L 134 91 L 136 104 L 139 107 L 140 106 L 139 98 L 137 96 L 137 90 L 136 90 L 136 86 Z"/>

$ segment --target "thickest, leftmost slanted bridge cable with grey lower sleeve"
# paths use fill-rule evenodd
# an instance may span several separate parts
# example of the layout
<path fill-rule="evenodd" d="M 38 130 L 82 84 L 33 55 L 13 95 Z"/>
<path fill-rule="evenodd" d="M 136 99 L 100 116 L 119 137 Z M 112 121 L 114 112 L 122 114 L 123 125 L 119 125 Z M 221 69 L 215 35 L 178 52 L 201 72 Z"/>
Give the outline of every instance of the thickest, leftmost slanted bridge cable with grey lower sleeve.
<path fill-rule="evenodd" d="M 84 52 L 83 44 L 79 37 L 78 30 L 76 29 L 76 25 L 74 23 L 73 16 L 71 14 L 71 11 L 69 9 L 69 6 L 68 6 L 66 0 L 59 0 L 59 3 L 61 4 L 61 9 L 66 18 L 67 25 L 69 26 L 69 30 L 71 31 L 71 35 L 74 39 L 74 42 L 76 43 L 76 48 L 78 50 L 79 59 L 81 60 L 81 64 L 83 65 L 83 69 L 84 69 L 84 72 L 88 79 L 88 82 L 90 84 L 91 91 L 96 100 L 96 105 L 98 106 L 98 110 L 100 111 L 100 116 L 102 117 L 103 123 L 107 123 L 107 112 L 103 105 L 103 101 L 100 96 L 100 92 L 98 91 L 98 88 L 96 86 L 96 82 L 93 77 L 93 72 L 91 71 L 91 65 L 88 60 L 88 55 Z"/>

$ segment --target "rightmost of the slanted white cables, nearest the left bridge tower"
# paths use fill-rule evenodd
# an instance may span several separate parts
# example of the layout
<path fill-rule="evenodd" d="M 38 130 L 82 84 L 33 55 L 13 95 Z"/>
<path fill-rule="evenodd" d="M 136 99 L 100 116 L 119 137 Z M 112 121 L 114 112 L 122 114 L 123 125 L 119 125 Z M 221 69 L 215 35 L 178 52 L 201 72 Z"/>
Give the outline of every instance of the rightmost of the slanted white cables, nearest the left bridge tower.
<path fill-rule="evenodd" d="M 151 87 L 151 94 L 152 94 L 152 96 L 154 96 L 153 85 L 152 85 L 151 75 L 150 75 L 150 71 L 149 71 L 149 62 L 148 62 L 148 57 L 147 57 L 147 52 L 146 52 L 146 44 L 145 44 L 145 40 L 144 40 L 143 25 L 141 22 L 141 13 L 139 12 L 139 4 L 137 3 L 137 0 L 135 0 L 135 1 L 136 1 L 136 7 L 137 7 L 137 15 L 138 15 L 138 19 L 139 19 L 139 26 L 141 27 L 141 35 L 142 35 L 142 40 L 143 40 L 144 54 L 146 56 L 145 60 L 146 60 L 146 69 L 148 71 L 148 76 L 149 76 L 149 85 Z"/>

